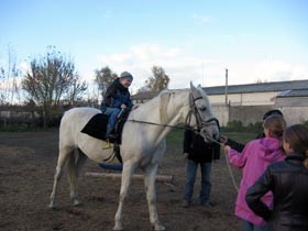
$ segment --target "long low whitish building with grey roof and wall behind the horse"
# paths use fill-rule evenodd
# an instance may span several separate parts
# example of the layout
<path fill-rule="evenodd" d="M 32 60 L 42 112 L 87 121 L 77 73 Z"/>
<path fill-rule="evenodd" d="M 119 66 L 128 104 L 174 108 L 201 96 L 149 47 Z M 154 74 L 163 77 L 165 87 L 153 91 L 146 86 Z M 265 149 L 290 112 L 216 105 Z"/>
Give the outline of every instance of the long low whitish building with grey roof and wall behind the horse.
<path fill-rule="evenodd" d="M 308 121 L 308 80 L 274 81 L 204 88 L 213 114 L 221 125 L 242 121 L 244 125 L 262 122 L 265 111 L 282 110 L 289 124 Z M 132 98 L 145 102 L 157 92 L 142 92 Z"/>

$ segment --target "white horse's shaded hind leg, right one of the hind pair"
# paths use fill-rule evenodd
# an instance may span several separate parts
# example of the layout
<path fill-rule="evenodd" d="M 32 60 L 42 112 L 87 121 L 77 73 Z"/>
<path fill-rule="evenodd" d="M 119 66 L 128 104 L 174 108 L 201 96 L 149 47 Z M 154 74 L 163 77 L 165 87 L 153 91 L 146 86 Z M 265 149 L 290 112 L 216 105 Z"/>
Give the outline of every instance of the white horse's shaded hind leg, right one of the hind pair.
<path fill-rule="evenodd" d="M 67 176 L 70 187 L 70 200 L 74 206 L 80 205 L 78 200 L 78 176 L 86 161 L 87 156 L 80 150 L 76 150 L 75 155 L 70 155 L 68 158 Z"/>

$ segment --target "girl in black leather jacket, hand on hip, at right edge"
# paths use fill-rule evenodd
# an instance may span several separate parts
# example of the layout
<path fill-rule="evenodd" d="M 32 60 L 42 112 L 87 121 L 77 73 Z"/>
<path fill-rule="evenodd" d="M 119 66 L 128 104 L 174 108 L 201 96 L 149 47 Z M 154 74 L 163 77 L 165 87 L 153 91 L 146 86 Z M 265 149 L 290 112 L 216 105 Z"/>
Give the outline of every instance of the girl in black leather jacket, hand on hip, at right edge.
<path fill-rule="evenodd" d="M 267 167 L 246 191 L 249 207 L 268 221 L 271 231 L 308 230 L 308 129 L 302 124 L 289 127 L 284 133 L 287 157 Z M 272 191 L 273 209 L 261 200 Z"/>

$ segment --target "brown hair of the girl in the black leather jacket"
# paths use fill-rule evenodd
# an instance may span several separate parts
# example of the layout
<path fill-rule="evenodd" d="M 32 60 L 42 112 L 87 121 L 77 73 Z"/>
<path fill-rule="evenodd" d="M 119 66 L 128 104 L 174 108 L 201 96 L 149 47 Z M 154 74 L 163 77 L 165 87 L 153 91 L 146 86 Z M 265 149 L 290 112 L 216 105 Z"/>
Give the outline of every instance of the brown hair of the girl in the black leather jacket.
<path fill-rule="evenodd" d="M 284 141 L 294 152 L 301 153 L 306 157 L 304 165 L 308 168 L 308 129 L 302 124 L 290 125 L 284 133 Z"/>

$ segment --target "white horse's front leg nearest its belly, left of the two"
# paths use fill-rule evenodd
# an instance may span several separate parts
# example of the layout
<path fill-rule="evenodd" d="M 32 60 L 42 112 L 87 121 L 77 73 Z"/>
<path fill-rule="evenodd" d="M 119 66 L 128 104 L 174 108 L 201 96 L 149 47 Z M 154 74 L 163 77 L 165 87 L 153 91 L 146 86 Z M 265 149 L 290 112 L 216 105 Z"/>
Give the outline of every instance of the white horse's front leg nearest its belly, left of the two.
<path fill-rule="evenodd" d="M 134 174 L 136 164 L 132 161 L 125 162 L 123 164 L 123 170 L 122 170 L 122 183 L 121 183 L 121 190 L 120 190 L 120 197 L 119 197 L 119 206 L 118 210 L 114 216 L 114 228 L 113 230 L 123 230 L 123 204 L 124 199 L 128 196 L 130 185 L 132 182 L 132 176 Z"/>

